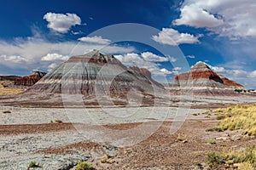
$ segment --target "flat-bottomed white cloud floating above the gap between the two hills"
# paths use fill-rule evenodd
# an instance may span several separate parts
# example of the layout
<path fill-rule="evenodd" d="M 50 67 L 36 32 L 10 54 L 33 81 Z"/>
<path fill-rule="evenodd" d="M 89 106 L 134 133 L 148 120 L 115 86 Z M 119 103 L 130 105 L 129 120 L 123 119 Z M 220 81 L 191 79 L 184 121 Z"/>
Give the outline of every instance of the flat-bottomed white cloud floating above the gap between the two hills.
<path fill-rule="evenodd" d="M 201 35 L 195 37 L 189 33 L 180 33 L 172 28 L 163 28 L 157 36 L 153 36 L 153 39 L 155 42 L 177 46 L 182 43 L 198 43 L 199 37 Z"/>

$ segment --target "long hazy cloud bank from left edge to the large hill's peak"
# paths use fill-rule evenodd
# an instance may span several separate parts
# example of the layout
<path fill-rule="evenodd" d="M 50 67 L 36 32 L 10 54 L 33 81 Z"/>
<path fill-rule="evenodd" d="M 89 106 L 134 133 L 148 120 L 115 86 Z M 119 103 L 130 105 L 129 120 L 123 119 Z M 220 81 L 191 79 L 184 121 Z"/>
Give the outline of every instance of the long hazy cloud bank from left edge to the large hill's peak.
<path fill-rule="evenodd" d="M 49 70 L 49 65 L 54 63 L 59 65 L 68 56 L 85 54 L 90 49 L 98 49 L 104 54 L 127 54 L 135 50 L 133 47 L 121 47 L 118 45 L 108 45 L 105 48 L 101 44 L 90 44 L 87 42 L 48 42 L 38 38 L 17 38 L 13 42 L 0 40 L 0 72 L 6 74 L 27 74 L 27 71 L 39 69 Z M 26 65 L 20 65 L 20 64 Z M 22 72 L 21 72 L 22 71 Z"/>

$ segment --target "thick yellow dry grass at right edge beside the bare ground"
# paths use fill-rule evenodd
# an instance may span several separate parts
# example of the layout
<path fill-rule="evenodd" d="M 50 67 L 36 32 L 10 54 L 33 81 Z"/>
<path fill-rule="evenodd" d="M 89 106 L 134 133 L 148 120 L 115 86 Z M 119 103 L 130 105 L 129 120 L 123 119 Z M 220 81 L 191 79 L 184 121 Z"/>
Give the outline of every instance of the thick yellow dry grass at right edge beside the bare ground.
<path fill-rule="evenodd" d="M 243 134 L 256 136 L 256 105 L 236 105 L 214 111 L 222 130 L 242 129 Z"/>

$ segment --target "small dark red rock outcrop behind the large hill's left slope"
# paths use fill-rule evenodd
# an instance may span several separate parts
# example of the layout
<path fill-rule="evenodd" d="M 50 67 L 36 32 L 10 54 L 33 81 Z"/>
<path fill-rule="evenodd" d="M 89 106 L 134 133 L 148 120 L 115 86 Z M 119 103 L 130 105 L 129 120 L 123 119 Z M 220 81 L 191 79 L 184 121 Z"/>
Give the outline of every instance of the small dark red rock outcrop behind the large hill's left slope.
<path fill-rule="evenodd" d="M 32 86 L 38 82 L 46 73 L 42 71 L 33 71 L 28 77 L 19 77 L 15 79 L 15 85 Z"/>

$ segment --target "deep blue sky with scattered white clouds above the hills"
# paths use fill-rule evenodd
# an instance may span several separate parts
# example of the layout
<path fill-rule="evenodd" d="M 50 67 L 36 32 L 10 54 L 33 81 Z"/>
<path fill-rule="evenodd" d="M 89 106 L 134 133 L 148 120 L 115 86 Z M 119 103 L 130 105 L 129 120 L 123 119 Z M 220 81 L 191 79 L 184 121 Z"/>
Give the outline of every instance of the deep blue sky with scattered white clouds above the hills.
<path fill-rule="evenodd" d="M 172 81 L 199 61 L 256 88 L 255 0 L 0 0 L 0 75 L 96 48 Z M 130 23 L 130 24 L 127 24 Z"/>

